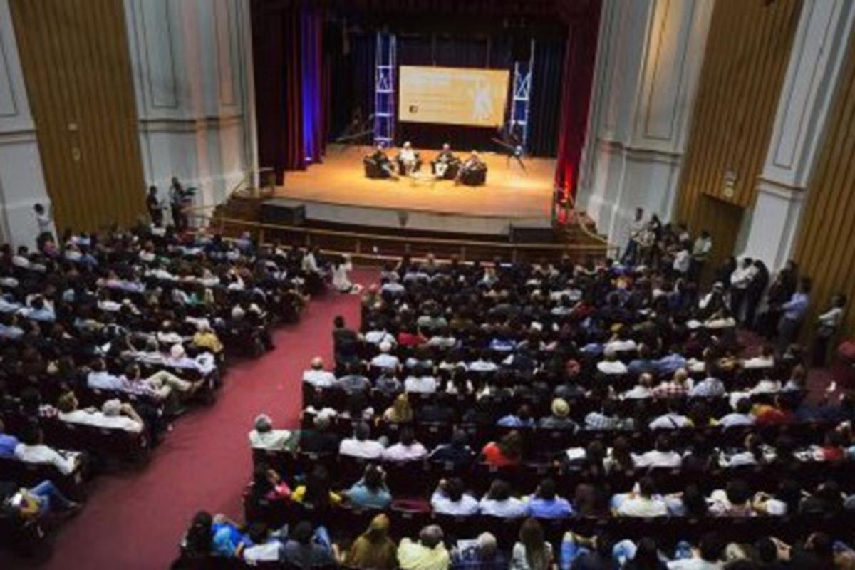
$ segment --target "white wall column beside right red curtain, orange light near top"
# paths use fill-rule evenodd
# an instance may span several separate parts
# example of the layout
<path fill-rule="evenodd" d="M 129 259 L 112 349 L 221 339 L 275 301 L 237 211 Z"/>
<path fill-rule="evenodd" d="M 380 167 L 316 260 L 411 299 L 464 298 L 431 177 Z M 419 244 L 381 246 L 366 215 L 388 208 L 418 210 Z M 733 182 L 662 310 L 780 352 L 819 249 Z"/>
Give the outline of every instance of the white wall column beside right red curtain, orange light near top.
<path fill-rule="evenodd" d="M 670 218 L 713 6 L 603 4 L 577 206 L 616 244 L 636 208 Z"/>

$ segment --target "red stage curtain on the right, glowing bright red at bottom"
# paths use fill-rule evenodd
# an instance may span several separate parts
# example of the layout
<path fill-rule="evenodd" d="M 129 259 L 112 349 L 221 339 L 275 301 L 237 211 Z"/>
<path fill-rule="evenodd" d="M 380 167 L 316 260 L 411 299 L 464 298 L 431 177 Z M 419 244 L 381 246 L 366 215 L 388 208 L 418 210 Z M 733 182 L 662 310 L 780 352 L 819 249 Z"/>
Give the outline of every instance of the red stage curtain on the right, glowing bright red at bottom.
<path fill-rule="evenodd" d="M 584 14 L 570 22 L 564 53 L 561 122 L 555 184 L 561 199 L 575 198 L 579 162 L 585 145 L 588 107 L 591 103 L 594 61 L 597 56 L 600 0 L 592 0 Z"/>

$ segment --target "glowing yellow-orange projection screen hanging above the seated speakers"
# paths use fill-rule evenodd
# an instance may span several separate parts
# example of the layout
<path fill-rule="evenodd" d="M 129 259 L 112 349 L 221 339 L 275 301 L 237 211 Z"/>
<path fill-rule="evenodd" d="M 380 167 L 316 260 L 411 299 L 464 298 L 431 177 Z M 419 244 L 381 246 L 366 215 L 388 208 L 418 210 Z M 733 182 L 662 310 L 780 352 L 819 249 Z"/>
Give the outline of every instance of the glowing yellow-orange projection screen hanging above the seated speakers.
<path fill-rule="evenodd" d="M 398 120 L 472 126 L 504 122 L 507 69 L 402 65 L 398 77 Z"/>

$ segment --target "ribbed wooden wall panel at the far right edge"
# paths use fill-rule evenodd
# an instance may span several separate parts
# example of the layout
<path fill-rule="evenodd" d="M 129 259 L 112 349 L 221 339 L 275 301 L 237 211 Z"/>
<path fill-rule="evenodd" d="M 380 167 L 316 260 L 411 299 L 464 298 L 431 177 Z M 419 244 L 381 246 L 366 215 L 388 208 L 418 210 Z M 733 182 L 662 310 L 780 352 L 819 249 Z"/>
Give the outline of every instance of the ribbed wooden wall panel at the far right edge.
<path fill-rule="evenodd" d="M 855 43 L 828 115 L 817 166 L 808 184 L 794 258 L 813 279 L 811 320 L 835 292 L 855 299 Z M 855 311 L 846 311 L 843 330 L 851 334 Z"/>

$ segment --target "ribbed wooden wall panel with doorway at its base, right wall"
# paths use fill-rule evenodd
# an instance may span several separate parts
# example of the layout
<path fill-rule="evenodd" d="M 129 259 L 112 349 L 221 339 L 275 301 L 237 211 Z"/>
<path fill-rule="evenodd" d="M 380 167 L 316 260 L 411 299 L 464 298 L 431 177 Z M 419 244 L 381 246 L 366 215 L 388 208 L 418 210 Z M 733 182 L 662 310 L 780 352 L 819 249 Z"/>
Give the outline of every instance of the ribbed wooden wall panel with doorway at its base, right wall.
<path fill-rule="evenodd" d="M 755 199 L 801 5 L 716 0 L 675 207 L 676 220 L 712 233 L 711 265 L 733 253 Z M 732 195 L 724 191 L 728 170 L 736 174 Z"/>

